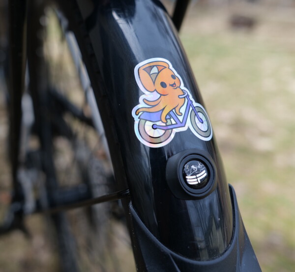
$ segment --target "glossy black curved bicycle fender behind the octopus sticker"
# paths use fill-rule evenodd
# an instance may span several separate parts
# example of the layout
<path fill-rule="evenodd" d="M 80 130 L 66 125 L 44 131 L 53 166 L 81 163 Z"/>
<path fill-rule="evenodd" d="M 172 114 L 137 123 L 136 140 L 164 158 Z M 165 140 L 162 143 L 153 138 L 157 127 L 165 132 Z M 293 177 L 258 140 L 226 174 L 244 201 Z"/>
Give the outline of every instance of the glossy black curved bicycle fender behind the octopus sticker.
<path fill-rule="evenodd" d="M 232 239 L 233 212 L 214 132 L 203 141 L 188 129 L 164 147 L 149 148 L 134 131 L 131 112 L 143 94 L 134 67 L 141 61 L 169 60 L 192 98 L 204 105 L 171 19 L 157 0 L 81 0 L 79 5 L 104 86 L 103 91 L 94 88 L 95 96 L 98 104 L 107 97 L 102 119 L 118 139 L 109 142 L 113 160 L 122 159 L 122 165 L 114 163 L 116 180 L 126 178 L 133 207 L 161 243 L 191 259 L 216 258 Z M 205 150 L 214 160 L 217 186 L 206 198 L 178 199 L 167 184 L 168 158 L 188 149 Z"/>

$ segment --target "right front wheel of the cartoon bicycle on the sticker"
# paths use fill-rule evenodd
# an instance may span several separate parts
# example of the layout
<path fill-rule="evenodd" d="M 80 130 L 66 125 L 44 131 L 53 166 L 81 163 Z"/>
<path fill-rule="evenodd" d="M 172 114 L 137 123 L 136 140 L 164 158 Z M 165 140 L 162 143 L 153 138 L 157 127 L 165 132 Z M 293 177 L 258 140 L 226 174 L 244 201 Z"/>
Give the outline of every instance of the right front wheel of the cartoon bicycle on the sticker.
<path fill-rule="evenodd" d="M 199 106 L 195 107 L 195 110 L 197 111 L 199 117 L 202 119 L 203 123 L 198 119 L 195 111 L 191 111 L 190 114 L 190 121 L 194 128 L 194 130 L 202 137 L 204 138 L 210 138 L 212 135 L 212 128 L 210 121 L 208 119 L 207 113 L 204 109 L 202 109 Z"/>

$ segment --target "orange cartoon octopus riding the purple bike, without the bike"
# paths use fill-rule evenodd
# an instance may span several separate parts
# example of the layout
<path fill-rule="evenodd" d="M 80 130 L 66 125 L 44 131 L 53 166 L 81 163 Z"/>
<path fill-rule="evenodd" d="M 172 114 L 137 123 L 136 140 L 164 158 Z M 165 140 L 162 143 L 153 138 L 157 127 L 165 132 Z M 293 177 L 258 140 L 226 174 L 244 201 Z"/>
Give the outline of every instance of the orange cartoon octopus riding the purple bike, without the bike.
<path fill-rule="evenodd" d="M 140 112 L 158 112 L 163 110 L 161 121 L 166 123 L 166 116 L 175 109 L 177 115 L 181 116 L 180 108 L 185 98 L 179 98 L 183 94 L 180 80 L 164 61 L 149 62 L 138 69 L 139 79 L 147 91 L 156 91 L 160 97 L 154 101 L 143 99 L 144 103 L 151 107 L 139 108 L 135 114 Z"/>

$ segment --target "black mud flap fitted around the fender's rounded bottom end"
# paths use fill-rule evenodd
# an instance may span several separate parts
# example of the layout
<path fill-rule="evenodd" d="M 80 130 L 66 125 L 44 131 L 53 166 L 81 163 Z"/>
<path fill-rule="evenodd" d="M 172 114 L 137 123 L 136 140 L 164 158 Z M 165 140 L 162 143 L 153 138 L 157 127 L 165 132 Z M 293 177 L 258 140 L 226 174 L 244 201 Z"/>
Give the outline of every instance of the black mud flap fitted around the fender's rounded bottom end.
<path fill-rule="evenodd" d="M 142 254 L 140 271 L 147 272 L 261 272 L 240 216 L 236 195 L 230 186 L 234 209 L 234 234 L 225 253 L 211 261 L 184 258 L 165 247 L 146 228 L 130 204 L 134 236 Z"/>

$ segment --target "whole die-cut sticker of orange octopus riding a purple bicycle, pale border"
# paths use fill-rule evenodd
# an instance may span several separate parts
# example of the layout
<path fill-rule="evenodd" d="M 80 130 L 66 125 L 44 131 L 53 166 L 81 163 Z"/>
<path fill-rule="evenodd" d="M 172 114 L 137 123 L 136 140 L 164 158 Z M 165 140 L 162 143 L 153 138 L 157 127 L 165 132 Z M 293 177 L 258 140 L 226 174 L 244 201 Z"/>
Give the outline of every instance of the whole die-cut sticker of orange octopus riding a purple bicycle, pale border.
<path fill-rule="evenodd" d="M 133 108 L 137 138 L 146 146 L 163 147 L 176 132 L 187 128 L 204 141 L 212 138 L 212 127 L 204 107 L 196 103 L 168 60 L 153 58 L 134 68 L 136 82 L 144 94 Z"/>

